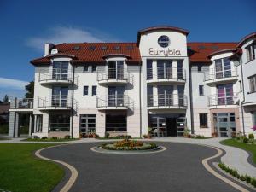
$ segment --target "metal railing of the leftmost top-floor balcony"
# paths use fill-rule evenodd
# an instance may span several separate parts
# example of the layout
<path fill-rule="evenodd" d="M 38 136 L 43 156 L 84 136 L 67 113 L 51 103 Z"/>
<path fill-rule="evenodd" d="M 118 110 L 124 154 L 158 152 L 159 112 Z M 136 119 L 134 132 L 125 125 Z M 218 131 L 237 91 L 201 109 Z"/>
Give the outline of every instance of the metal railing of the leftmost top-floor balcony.
<path fill-rule="evenodd" d="M 57 81 L 66 81 L 72 82 L 73 81 L 73 73 L 70 70 L 61 70 L 59 68 L 53 68 L 49 71 L 49 73 L 39 73 L 40 83 L 42 82 L 57 82 Z"/>

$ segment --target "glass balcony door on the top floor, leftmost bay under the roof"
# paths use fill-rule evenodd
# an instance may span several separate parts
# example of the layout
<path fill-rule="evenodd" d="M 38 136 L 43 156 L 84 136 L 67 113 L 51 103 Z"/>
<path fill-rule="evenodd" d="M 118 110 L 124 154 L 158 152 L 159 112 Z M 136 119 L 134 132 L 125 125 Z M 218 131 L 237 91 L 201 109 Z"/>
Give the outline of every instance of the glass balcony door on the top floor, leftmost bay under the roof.
<path fill-rule="evenodd" d="M 53 79 L 67 80 L 68 61 L 54 61 Z"/>

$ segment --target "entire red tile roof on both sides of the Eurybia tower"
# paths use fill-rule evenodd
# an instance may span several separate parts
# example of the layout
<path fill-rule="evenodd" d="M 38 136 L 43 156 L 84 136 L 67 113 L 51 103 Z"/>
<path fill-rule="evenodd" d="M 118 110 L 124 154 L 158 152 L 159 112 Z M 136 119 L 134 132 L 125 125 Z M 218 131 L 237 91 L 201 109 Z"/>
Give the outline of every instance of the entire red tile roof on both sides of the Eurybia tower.
<path fill-rule="evenodd" d="M 224 49 L 236 49 L 237 43 L 188 43 L 189 60 L 192 63 L 211 63 L 207 57 L 214 52 Z M 107 47 L 107 49 L 104 49 Z M 90 49 L 91 48 L 91 49 Z M 47 55 L 32 60 L 33 65 L 46 64 L 50 62 L 52 56 L 63 56 L 73 58 L 73 63 L 104 63 L 105 58 L 113 55 L 123 55 L 127 58 L 127 63 L 141 63 L 141 55 L 136 43 L 80 43 L 80 44 L 57 44 L 58 54 Z"/>

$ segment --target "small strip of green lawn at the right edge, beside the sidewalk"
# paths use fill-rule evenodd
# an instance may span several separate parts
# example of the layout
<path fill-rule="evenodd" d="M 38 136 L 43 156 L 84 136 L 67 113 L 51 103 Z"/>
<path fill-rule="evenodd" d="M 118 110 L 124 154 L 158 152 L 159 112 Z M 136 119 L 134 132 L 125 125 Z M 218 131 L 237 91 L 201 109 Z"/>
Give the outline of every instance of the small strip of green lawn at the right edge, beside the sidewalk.
<path fill-rule="evenodd" d="M 241 143 L 241 142 L 238 142 L 236 139 L 226 139 L 226 140 L 222 141 L 221 143 L 224 145 L 241 148 L 241 149 L 251 152 L 253 154 L 253 162 L 256 164 L 256 144 Z"/>

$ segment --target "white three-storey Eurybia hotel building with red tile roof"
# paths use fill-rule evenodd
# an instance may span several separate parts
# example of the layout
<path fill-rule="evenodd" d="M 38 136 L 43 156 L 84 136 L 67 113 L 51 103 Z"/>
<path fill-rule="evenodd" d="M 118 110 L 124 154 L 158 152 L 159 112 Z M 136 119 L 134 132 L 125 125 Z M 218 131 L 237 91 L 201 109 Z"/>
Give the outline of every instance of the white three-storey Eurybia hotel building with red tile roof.
<path fill-rule="evenodd" d="M 9 137 L 30 113 L 31 136 L 96 132 L 143 137 L 229 137 L 256 125 L 256 33 L 235 43 L 189 43 L 189 32 L 157 26 L 136 43 L 45 44 L 34 98 L 11 103 Z"/>

